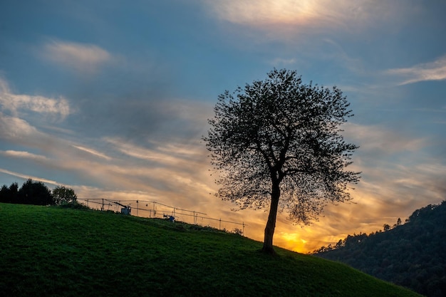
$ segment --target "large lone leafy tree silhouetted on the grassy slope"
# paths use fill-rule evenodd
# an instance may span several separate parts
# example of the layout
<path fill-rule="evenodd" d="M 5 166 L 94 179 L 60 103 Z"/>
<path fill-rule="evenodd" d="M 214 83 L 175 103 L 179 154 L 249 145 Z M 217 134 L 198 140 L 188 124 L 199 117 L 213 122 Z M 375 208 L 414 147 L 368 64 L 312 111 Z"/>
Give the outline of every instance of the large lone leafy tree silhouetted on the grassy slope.
<path fill-rule="evenodd" d="M 358 148 L 346 143 L 340 125 L 350 117 L 341 90 L 305 85 L 296 71 L 271 71 L 234 95 L 219 95 L 203 137 L 219 172 L 217 197 L 242 209 L 269 206 L 263 251 L 274 254 L 279 209 L 308 224 L 329 202 L 351 199 L 348 183 L 358 172 L 344 170 Z"/>

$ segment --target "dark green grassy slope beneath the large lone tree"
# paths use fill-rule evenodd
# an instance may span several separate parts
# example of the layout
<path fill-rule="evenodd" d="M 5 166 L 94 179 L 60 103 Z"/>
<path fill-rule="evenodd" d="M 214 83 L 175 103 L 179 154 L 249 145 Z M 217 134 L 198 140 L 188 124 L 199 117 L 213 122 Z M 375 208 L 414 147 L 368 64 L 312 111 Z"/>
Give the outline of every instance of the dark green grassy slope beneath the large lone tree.
<path fill-rule="evenodd" d="M 160 219 L 0 204 L 4 296 L 419 296 L 315 256 Z"/>

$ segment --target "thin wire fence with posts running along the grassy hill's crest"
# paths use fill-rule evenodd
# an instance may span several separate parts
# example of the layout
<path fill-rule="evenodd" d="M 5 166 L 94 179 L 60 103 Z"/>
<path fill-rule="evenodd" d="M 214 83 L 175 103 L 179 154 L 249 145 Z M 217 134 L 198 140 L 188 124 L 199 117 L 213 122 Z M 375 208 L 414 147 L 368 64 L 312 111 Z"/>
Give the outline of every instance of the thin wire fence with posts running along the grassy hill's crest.
<path fill-rule="evenodd" d="M 156 201 L 145 200 L 113 200 L 113 199 L 79 199 L 78 201 L 90 209 L 101 211 L 113 211 L 123 214 L 130 214 L 136 217 L 170 219 L 172 222 L 185 222 L 199 226 L 210 226 L 219 230 L 229 231 L 244 235 L 247 224 L 244 222 L 232 222 L 222 218 L 207 217 L 204 212 L 181 209 Z"/>

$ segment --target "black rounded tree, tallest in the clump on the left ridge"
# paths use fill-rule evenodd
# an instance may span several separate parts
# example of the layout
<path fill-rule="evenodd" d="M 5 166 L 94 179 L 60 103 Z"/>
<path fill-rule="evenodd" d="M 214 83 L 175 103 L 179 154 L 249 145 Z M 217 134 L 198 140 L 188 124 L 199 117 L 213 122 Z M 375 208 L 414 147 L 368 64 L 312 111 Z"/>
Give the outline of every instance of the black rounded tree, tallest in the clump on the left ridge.
<path fill-rule="evenodd" d="M 54 204 L 51 190 L 43 182 L 33 182 L 28 179 L 19 189 L 19 200 L 23 204 L 52 205 Z"/>

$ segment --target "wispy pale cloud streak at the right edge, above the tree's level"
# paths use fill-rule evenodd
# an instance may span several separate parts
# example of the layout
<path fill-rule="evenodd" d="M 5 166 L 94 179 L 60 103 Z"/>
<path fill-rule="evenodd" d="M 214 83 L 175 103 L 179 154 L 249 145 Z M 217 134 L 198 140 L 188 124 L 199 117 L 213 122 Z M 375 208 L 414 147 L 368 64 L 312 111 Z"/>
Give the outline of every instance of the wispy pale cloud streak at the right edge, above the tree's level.
<path fill-rule="evenodd" d="M 410 68 L 395 68 L 385 71 L 390 75 L 395 75 L 403 81 L 398 85 L 408 85 L 426 80 L 446 80 L 446 56 L 438 58 L 436 61 L 421 63 Z"/>

